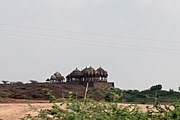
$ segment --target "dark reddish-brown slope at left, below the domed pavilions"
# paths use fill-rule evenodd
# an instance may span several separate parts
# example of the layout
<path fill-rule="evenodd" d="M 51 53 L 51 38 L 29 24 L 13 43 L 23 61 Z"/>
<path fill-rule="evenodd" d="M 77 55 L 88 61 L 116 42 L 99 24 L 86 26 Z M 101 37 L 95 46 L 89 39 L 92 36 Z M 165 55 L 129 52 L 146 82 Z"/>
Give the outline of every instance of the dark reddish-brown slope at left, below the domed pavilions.
<path fill-rule="evenodd" d="M 83 98 L 85 86 L 65 83 L 0 84 L 0 98 L 47 100 L 47 93 L 43 89 L 51 90 L 57 98 L 66 98 L 69 92 L 77 93 L 78 98 Z"/>

